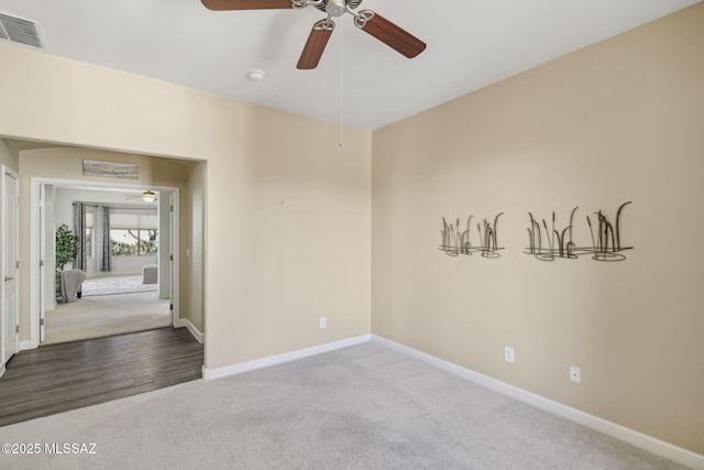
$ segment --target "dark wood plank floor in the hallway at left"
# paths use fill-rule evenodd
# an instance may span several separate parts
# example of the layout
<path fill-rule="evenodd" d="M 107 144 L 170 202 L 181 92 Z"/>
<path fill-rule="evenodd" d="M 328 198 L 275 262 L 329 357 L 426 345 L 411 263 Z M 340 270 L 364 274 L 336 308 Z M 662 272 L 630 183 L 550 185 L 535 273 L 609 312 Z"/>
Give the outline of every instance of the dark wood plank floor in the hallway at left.
<path fill-rule="evenodd" d="M 170 327 L 20 351 L 0 378 L 0 426 L 197 380 L 202 361 Z"/>

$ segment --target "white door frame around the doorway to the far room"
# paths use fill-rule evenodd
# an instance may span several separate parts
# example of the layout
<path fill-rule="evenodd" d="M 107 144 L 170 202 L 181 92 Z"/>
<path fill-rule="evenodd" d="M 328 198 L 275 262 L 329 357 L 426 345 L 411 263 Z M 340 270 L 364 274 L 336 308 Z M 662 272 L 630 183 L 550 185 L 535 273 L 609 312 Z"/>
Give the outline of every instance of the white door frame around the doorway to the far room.
<path fill-rule="evenodd" d="M 124 188 L 124 189 L 153 189 L 158 192 L 172 193 L 174 195 L 174 221 L 170 231 L 174 233 L 174 263 L 173 263 L 173 282 L 174 285 L 179 284 L 179 260 L 178 253 L 180 253 L 180 238 L 179 238 L 179 188 L 174 186 L 156 186 L 145 184 L 129 184 L 129 183 L 108 183 L 99 181 L 86 181 L 86 179 L 57 179 L 46 177 L 31 177 L 30 178 L 30 341 L 29 348 L 36 348 L 40 346 L 40 318 L 41 318 L 41 296 L 43 292 L 40 287 L 41 277 L 41 264 L 44 260 L 41 259 L 43 251 L 40 240 L 40 227 L 43 225 L 40 219 L 40 190 L 44 185 L 53 186 L 76 186 L 76 187 L 106 187 L 106 188 Z M 48 241 L 45 241 L 48 242 Z M 178 326 L 179 314 L 179 289 L 172 291 L 172 325 Z"/>

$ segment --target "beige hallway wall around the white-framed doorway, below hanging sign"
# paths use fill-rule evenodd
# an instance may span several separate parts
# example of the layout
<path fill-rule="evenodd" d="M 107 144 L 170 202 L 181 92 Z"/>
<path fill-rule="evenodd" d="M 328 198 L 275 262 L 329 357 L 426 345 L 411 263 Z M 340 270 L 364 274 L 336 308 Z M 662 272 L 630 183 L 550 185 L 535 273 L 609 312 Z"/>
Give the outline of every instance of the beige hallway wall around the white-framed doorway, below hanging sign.
<path fill-rule="evenodd" d="M 106 162 L 133 163 L 139 166 L 139 179 L 90 177 L 82 175 L 82 160 L 97 160 Z M 180 256 L 186 259 L 186 247 L 190 240 L 190 203 L 188 182 L 196 167 L 196 162 L 170 161 L 168 159 L 150 157 L 144 155 L 106 152 L 90 149 L 55 147 L 35 149 L 20 152 L 20 231 L 30 232 L 30 190 L 33 177 L 66 179 L 66 181 L 96 181 L 100 183 L 114 183 L 116 185 L 138 184 L 147 186 L 178 187 L 182 197 L 186 199 L 180 210 Z M 30 259 L 30 238 L 21 237 L 21 260 Z M 188 292 L 190 286 L 190 271 L 188 264 L 180 267 L 180 318 L 190 318 L 194 313 L 189 308 Z M 30 272 L 21 272 L 20 296 L 26 302 L 20 304 L 21 339 L 30 339 Z M 200 315 L 200 313 L 197 313 Z"/>

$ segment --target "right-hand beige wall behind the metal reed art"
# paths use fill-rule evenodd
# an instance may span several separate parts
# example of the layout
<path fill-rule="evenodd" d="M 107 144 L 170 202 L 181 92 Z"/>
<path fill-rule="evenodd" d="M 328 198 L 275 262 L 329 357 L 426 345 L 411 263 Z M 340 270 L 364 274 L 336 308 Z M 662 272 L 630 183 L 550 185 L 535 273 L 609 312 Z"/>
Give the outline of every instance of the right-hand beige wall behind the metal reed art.
<path fill-rule="evenodd" d="M 373 332 L 704 453 L 703 24 L 697 4 L 374 132 Z M 628 200 L 626 261 L 522 253 L 528 211 L 579 206 L 591 244 L 585 216 Z M 501 259 L 438 250 L 441 217 L 502 211 Z"/>

